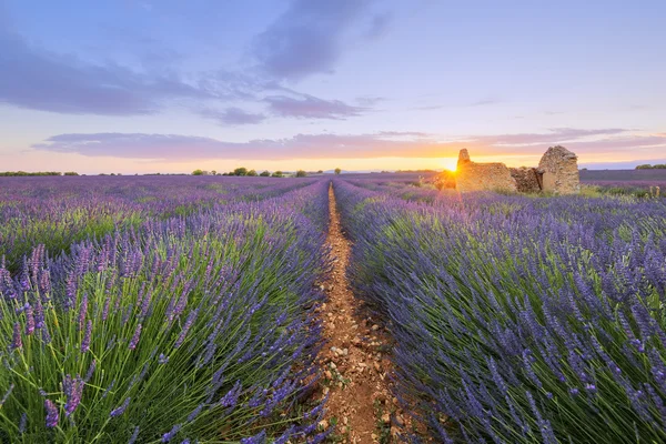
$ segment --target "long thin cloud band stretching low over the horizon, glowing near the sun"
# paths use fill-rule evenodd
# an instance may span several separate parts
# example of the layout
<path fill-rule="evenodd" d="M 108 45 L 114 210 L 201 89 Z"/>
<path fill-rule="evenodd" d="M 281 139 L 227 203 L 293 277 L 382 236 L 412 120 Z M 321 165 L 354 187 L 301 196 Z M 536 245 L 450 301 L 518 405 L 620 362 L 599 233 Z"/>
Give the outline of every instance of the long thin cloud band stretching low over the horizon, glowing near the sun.
<path fill-rule="evenodd" d="M 440 141 L 420 132 L 381 132 L 374 134 L 296 134 L 285 139 L 258 139 L 225 142 L 210 138 L 142 134 L 95 133 L 60 134 L 33 145 L 37 150 L 78 153 L 89 157 L 110 155 L 128 159 L 186 161 L 198 159 L 371 159 L 382 157 L 443 158 L 457 155 L 468 148 L 472 157 L 535 154 L 547 147 L 569 140 L 566 147 L 579 155 L 603 154 L 615 149 L 649 154 L 663 152 L 666 138 L 630 135 L 607 138 L 623 130 L 557 129 L 548 133 L 467 137 Z M 585 141 L 592 135 L 601 139 Z M 511 143 L 509 143 L 511 141 Z M 645 157 L 645 155 L 643 155 Z M 637 157 L 638 158 L 638 157 Z"/>

